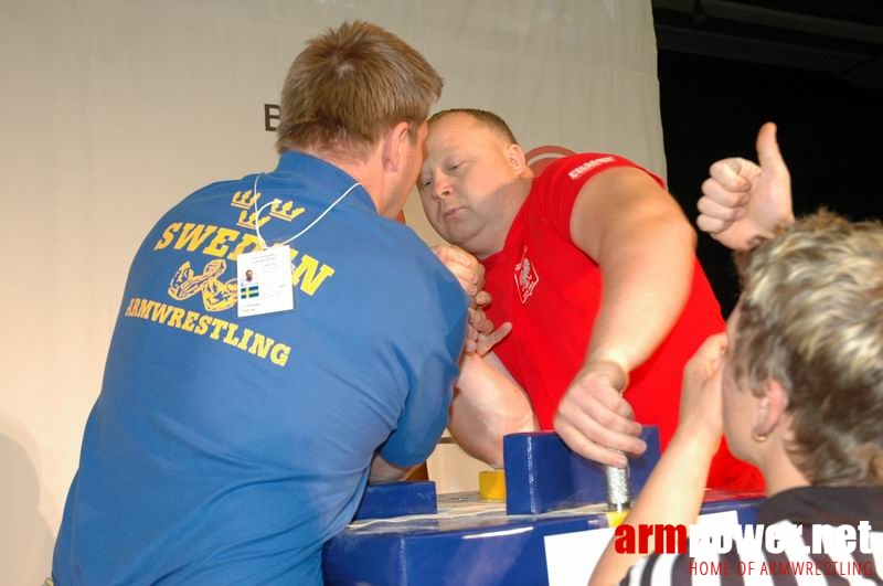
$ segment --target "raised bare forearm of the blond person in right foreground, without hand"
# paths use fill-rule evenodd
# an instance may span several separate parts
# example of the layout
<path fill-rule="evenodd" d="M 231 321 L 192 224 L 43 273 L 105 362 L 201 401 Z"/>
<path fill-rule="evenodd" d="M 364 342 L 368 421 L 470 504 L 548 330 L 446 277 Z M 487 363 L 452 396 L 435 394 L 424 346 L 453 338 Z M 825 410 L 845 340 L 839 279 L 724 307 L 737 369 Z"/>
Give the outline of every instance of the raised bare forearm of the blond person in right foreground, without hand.
<path fill-rule="evenodd" d="M 705 493 L 705 480 L 723 434 L 721 359 L 725 334 L 712 335 L 684 369 L 681 420 L 659 464 L 653 468 L 624 524 L 683 524 L 695 522 Z M 641 554 L 619 554 L 607 544 L 589 586 L 617 584 Z"/>

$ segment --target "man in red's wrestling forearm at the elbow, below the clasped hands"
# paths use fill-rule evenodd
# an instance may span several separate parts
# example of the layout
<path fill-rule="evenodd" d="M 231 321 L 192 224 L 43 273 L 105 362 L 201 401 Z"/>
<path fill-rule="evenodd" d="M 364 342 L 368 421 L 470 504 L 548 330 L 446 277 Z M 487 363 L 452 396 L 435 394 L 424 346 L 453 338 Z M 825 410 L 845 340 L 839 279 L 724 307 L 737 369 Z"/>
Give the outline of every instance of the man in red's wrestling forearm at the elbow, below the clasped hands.
<path fill-rule="evenodd" d="M 466 354 L 454 391 L 448 429 L 470 456 L 500 468 L 502 438 L 538 428 L 530 401 L 493 355 Z"/>

